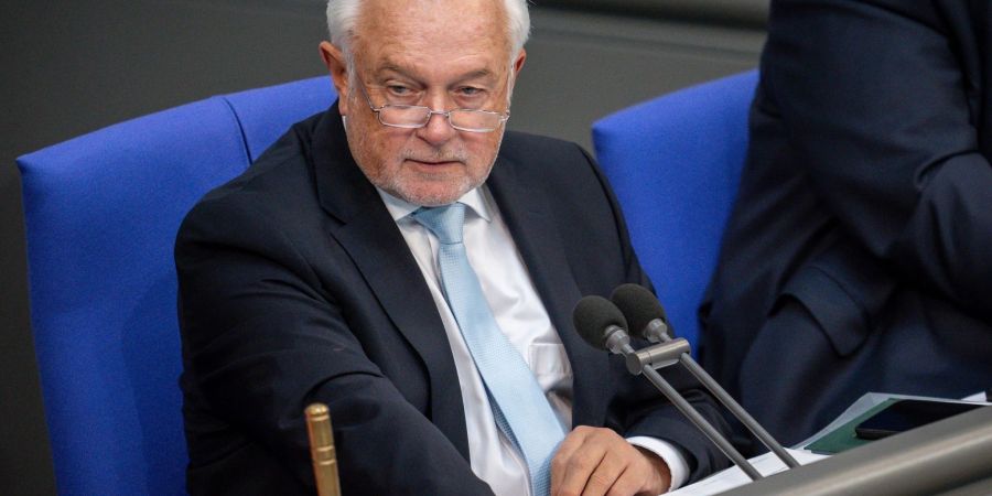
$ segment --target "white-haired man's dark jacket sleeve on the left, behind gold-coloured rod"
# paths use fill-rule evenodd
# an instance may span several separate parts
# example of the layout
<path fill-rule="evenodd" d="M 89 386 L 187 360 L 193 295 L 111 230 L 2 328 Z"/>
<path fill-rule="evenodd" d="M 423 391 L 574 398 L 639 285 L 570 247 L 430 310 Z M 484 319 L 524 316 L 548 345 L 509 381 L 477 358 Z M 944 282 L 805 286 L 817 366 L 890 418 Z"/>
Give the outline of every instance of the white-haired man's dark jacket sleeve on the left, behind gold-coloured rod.
<path fill-rule="evenodd" d="M 313 486 L 303 410 L 328 405 L 344 494 L 490 494 L 367 358 L 279 226 L 202 203 L 176 245 L 185 376 L 215 417 Z"/>

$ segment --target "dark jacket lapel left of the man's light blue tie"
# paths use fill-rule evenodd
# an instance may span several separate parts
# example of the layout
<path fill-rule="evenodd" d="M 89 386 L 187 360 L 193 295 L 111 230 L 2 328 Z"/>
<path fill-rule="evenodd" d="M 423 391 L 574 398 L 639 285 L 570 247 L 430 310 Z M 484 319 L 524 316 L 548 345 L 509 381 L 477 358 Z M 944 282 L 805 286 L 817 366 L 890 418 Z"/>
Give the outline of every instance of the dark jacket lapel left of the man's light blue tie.
<path fill-rule="evenodd" d="M 337 106 L 313 140 L 321 206 L 339 224 L 330 233 L 348 252 L 386 314 L 430 376 L 431 421 L 468 460 L 465 412 L 444 325 L 423 274 L 375 187 L 347 148 Z"/>

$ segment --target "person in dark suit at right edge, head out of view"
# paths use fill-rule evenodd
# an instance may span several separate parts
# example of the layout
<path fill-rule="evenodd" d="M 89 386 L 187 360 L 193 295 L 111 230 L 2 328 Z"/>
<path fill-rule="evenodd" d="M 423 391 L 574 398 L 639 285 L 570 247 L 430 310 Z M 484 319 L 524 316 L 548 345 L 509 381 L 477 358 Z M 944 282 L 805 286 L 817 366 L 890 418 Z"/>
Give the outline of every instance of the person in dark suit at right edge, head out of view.
<path fill-rule="evenodd" d="M 772 3 L 701 356 L 784 443 L 992 384 L 990 6 Z"/>

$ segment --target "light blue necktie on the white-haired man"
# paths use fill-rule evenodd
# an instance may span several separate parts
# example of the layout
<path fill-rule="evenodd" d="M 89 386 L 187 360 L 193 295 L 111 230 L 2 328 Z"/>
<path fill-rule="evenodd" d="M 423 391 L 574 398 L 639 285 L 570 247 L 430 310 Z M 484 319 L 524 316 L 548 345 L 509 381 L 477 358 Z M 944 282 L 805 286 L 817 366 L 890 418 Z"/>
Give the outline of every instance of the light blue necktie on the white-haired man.
<path fill-rule="evenodd" d="M 412 217 L 441 241 L 438 265 L 444 298 L 486 385 L 496 423 L 527 461 L 535 496 L 547 495 L 551 457 L 564 431 L 524 357 L 499 331 L 468 263 L 462 242 L 465 205 L 420 208 Z"/>

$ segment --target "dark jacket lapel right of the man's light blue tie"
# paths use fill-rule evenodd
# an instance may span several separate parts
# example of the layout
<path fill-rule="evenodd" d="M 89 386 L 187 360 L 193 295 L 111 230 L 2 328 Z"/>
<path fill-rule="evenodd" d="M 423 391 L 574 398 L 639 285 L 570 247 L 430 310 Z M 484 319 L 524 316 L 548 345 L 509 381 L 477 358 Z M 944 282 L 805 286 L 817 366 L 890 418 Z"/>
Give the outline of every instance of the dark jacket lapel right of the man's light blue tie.
<path fill-rule="evenodd" d="M 573 423 L 599 423 L 605 416 L 607 355 L 586 344 L 572 324 L 572 310 L 582 298 L 565 256 L 559 223 L 548 202 L 548 188 L 525 177 L 526 170 L 499 159 L 487 182 L 499 212 L 524 258 L 541 302 L 569 355 L 573 373 Z M 592 420 L 591 420 L 592 419 Z"/>

